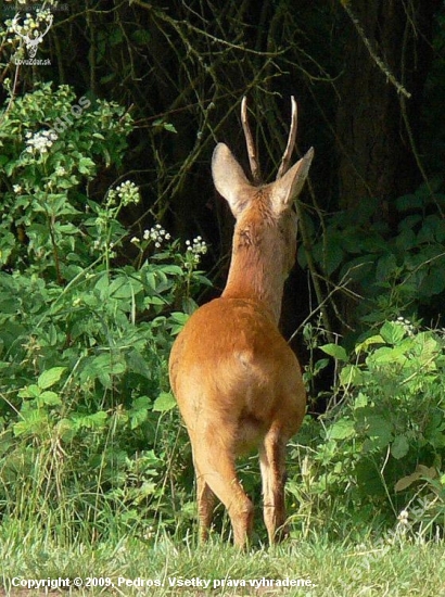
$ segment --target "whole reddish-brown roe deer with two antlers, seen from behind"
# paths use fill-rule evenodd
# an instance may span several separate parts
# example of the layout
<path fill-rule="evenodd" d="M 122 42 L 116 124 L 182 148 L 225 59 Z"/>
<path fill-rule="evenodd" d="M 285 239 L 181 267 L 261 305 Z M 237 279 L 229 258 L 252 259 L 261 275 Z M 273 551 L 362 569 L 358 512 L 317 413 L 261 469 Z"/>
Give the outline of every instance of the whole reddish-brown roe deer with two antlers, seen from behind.
<path fill-rule="evenodd" d="M 246 118 L 242 124 L 254 182 L 259 167 Z M 196 474 L 200 538 L 206 539 L 214 497 L 226 506 L 234 544 L 253 526 L 253 504 L 236 472 L 236 458 L 259 449 L 264 520 L 269 542 L 282 531 L 284 450 L 302 423 L 306 393 L 298 361 L 278 330 L 284 280 L 296 250 L 293 201 L 309 170 L 310 149 L 289 168 L 296 135 L 296 103 L 277 180 L 256 186 L 228 147 L 218 143 L 213 180 L 237 219 L 223 295 L 200 307 L 171 350 L 169 376 L 190 436 Z"/>

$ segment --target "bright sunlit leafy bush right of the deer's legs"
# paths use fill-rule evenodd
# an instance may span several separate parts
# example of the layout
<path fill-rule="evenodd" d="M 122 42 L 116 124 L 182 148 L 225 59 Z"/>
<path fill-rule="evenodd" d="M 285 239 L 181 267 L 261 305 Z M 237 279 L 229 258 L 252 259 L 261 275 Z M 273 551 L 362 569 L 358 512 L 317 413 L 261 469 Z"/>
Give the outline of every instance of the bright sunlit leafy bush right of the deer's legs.
<path fill-rule="evenodd" d="M 312 517 L 358 529 L 402 510 L 424 533 L 443 529 L 444 346 L 443 331 L 399 318 L 358 343 L 352 363 L 341 346 L 322 347 L 343 364 L 339 386 L 327 412 L 306 419 L 293 453 L 303 472 L 290 484 Z"/>

